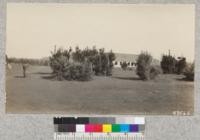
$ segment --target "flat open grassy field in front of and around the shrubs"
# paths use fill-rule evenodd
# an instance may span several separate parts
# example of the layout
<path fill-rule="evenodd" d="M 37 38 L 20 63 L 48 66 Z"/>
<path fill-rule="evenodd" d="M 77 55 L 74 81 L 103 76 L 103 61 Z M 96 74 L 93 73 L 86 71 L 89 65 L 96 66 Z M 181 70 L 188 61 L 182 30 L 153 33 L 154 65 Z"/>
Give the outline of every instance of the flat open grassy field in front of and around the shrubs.
<path fill-rule="evenodd" d="M 134 71 L 114 69 L 112 77 L 87 82 L 55 81 L 45 66 L 30 66 L 22 78 L 20 65 L 6 76 L 7 113 L 159 114 L 193 113 L 194 84 L 181 75 L 139 80 Z"/>

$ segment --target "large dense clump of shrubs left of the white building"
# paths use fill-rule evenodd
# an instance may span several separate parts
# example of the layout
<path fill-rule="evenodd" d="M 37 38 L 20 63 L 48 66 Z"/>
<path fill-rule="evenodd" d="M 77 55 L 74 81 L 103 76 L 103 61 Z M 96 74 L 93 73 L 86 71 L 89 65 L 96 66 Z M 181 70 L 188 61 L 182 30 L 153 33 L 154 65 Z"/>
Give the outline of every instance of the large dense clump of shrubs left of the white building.
<path fill-rule="evenodd" d="M 58 80 L 90 80 L 92 75 L 112 75 L 115 54 L 96 47 L 83 50 L 76 47 L 54 49 L 50 56 L 50 66 Z"/>

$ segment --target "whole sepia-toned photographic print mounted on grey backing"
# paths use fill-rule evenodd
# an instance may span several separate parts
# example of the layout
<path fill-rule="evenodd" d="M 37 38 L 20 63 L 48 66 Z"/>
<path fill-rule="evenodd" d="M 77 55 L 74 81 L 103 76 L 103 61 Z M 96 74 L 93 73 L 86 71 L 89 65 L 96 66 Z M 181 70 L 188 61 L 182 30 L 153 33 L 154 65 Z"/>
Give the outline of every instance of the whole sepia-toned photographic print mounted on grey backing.
<path fill-rule="evenodd" d="M 192 4 L 8 3 L 6 113 L 193 115 Z"/>

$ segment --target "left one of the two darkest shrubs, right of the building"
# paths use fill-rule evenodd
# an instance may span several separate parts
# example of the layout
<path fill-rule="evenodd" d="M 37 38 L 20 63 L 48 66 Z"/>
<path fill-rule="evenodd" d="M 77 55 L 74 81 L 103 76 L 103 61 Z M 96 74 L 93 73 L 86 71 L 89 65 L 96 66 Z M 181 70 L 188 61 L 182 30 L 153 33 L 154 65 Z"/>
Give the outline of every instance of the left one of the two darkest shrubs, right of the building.
<path fill-rule="evenodd" d="M 161 68 L 163 73 L 175 73 L 177 60 L 175 57 L 169 55 L 163 55 L 161 60 Z"/>

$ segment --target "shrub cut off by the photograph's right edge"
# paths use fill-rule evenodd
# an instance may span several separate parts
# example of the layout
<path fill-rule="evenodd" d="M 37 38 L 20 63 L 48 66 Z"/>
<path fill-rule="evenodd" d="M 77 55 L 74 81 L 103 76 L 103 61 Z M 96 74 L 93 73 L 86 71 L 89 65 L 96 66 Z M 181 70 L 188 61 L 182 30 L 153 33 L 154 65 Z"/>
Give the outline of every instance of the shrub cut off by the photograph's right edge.
<path fill-rule="evenodd" d="M 183 74 L 185 75 L 186 80 L 194 81 L 194 63 L 187 64 Z"/>

